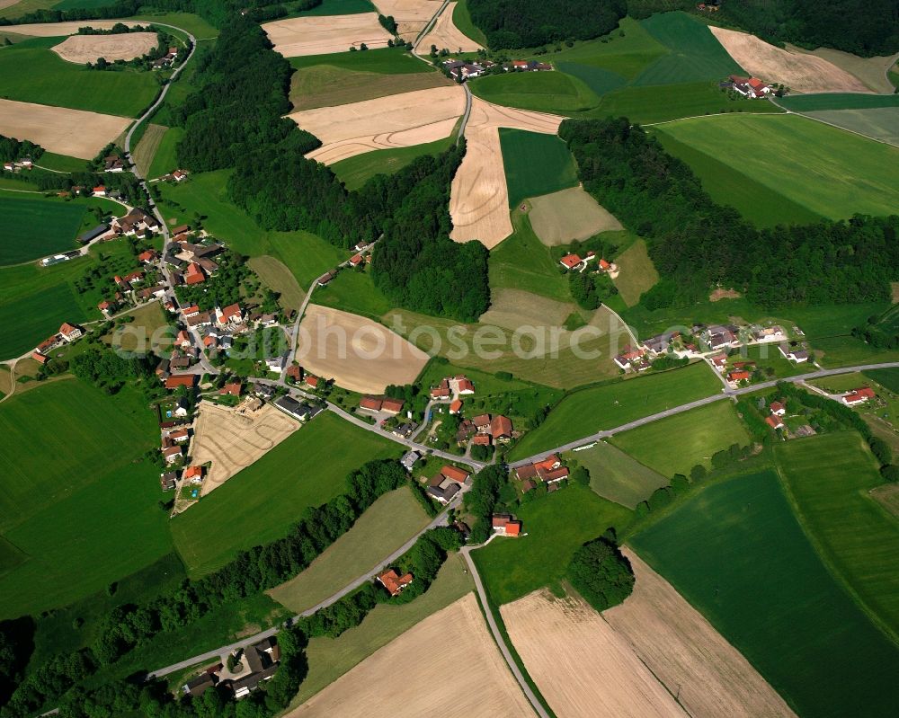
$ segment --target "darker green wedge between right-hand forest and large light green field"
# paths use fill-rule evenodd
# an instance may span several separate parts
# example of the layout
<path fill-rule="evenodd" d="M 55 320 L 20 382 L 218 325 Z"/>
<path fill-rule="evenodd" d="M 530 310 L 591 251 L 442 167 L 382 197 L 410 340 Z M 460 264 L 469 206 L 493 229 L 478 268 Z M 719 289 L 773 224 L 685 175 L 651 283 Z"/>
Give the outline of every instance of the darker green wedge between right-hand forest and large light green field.
<path fill-rule="evenodd" d="M 717 155 L 707 155 L 696 147 L 675 139 L 662 126 L 654 131 L 665 150 L 690 165 L 702 182 L 702 189 L 718 204 L 729 205 L 743 218 L 760 228 L 785 224 L 805 225 L 822 217 L 797 201 L 787 199 L 758 180 L 752 179 Z"/>

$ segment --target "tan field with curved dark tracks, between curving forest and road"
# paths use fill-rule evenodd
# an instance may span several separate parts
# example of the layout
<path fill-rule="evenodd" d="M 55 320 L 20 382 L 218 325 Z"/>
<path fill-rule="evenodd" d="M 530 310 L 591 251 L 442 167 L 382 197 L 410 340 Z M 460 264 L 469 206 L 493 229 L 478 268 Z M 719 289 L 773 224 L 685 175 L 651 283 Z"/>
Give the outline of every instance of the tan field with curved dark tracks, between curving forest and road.
<path fill-rule="evenodd" d="M 334 164 L 376 149 L 449 137 L 464 111 L 465 91 L 453 84 L 293 112 L 290 118 L 322 140 L 323 145 L 307 157 Z"/>

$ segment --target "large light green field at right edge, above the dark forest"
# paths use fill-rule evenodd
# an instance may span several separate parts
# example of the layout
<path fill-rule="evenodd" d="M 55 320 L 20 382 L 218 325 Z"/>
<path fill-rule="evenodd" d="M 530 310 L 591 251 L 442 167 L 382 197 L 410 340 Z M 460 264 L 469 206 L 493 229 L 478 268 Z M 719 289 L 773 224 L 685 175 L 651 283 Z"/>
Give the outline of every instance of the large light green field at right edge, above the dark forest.
<path fill-rule="evenodd" d="M 663 132 L 823 217 L 889 214 L 899 203 L 899 148 L 797 115 L 683 120 Z M 778 152 L 738 154 L 735 143 Z"/>

